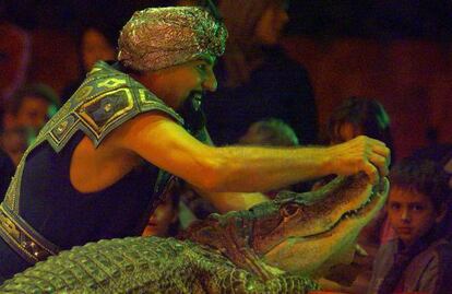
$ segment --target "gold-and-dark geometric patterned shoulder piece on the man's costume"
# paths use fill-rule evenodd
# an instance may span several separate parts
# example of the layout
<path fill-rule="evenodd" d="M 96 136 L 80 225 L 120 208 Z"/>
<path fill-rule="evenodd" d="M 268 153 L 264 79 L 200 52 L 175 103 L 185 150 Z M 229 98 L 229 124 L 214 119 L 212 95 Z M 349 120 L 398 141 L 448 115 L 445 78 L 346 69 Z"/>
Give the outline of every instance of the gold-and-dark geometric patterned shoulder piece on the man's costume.
<path fill-rule="evenodd" d="M 105 62 L 98 62 L 85 82 L 45 126 L 36 144 L 47 140 L 60 152 L 82 130 L 98 146 L 103 139 L 132 117 L 164 111 L 177 122 L 182 118 L 147 89 Z"/>

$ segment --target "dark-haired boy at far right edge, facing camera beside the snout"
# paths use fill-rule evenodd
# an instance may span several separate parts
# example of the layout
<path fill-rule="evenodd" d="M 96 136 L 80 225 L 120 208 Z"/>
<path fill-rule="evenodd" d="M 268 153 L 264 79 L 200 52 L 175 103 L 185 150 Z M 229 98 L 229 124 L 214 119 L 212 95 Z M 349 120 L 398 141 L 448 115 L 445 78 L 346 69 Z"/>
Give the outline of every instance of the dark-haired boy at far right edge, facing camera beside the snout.
<path fill-rule="evenodd" d="M 448 176 L 438 163 L 411 157 L 392 168 L 390 180 L 386 211 L 396 238 L 380 247 L 368 293 L 449 293 Z"/>

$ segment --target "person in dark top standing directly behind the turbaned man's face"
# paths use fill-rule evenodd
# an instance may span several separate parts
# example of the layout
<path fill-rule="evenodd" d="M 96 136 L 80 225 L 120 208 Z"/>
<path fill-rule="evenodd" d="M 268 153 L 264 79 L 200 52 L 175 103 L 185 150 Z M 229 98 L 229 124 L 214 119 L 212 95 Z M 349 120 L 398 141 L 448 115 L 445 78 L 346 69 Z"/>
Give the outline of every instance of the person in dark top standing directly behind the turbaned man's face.
<path fill-rule="evenodd" d="M 203 102 L 216 144 L 236 143 L 251 124 L 271 117 L 288 124 L 300 143 L 316 141 L 317 106 L 308 72 L 278 47 L 288 22 L 286 4 L 283 0 L 218 1 L 229 37 L 215 69 L 217 91 Z"/>

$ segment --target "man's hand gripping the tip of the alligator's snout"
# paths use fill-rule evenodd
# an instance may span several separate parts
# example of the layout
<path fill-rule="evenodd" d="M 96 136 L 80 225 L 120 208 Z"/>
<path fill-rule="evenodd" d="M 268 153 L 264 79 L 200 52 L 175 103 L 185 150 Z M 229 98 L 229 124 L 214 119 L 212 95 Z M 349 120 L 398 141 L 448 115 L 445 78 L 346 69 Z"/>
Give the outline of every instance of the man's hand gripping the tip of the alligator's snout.
<path fill-rule="evenodd" d="M 366 136 L 330 146 L 329 154 L 332 174 L 348 176 L 365 172 L 376 183 L 389 173 L 391 151 L 383 142 Z"/>

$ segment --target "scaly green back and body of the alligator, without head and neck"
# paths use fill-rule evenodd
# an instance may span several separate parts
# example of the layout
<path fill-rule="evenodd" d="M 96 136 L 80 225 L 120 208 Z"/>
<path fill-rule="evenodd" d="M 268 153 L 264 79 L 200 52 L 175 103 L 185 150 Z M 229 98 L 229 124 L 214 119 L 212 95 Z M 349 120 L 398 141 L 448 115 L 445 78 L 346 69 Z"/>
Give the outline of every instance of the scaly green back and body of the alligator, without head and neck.
<path fill-rule="evenodd" d="M 312 281 L 297 275 L 262 281 L 189 240 L 129 237 L 50 257 L 7 281 L 0 293 L 307 293 L 312 289 Z"/>

